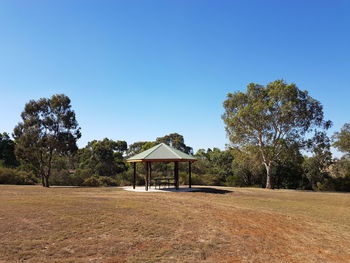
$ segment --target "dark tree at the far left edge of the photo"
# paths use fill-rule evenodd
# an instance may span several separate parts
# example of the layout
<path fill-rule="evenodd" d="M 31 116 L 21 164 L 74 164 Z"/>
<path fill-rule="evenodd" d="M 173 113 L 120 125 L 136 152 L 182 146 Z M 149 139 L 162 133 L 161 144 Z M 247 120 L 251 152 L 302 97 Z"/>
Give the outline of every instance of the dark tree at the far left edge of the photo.
<path fill-rule="evenodd" d="M 15 155 L 15 142 L 11 140 L 6 132 L 0 133 L 0 166 L 1 163 L 5 167 L 18 166 Z"/>

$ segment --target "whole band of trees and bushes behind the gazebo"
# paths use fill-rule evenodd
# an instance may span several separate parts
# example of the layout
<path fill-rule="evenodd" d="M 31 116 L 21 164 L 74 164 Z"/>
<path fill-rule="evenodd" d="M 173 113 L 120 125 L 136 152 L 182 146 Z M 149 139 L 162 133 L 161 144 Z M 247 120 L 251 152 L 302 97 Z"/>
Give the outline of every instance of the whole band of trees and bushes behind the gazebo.
<path fill-rule="evenodd" d="M 177 133 L 130 145 L 105 138 L 79 149 L 81 128 L 70 99 L 58 94 L 31 100 L 13 139 L 0 133 L 0 183 L 130 185 L 133 174 L 126 158 L 165 143 L 198 159 L 193 184 L 350 191 L 350 124 L 329 138 L 332 123 L 307 91 L 283 80 L 251 83 L 246 92 L 229 93 L 223 105 L 230 143 L 225 150 L 194 153 Z M 333 158 L 332 146 L 344 153 L 340 159 Z M 188 183 L 187 169 L 180 164 L 183 184 Z M 144 165 L 137 164 L 138 184 L 144 184 L 144 173 Z M 172 173 L 172 163 L 152 166 L 155 177 Z"/>

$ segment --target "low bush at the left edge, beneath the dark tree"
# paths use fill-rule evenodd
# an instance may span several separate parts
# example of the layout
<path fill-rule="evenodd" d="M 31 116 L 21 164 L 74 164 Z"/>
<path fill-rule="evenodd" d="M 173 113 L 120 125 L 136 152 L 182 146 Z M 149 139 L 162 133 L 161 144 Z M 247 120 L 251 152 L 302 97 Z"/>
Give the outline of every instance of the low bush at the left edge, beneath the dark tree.
<path fill-rule="evenodd" d="M 38 179 L 31 172 L 0 167 L 0 184 L 32 185 Z"/>

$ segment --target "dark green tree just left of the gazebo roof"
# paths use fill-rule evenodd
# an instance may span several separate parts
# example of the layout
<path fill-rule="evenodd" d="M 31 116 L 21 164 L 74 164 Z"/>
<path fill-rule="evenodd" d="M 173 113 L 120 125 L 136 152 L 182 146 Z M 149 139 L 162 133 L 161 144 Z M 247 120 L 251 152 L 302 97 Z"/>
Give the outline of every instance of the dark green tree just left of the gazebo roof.
<path fill-rule="evenodd" d="M 81 168 L 88 168 L 97 176 L 114 176 L 126 170 L 123 154 L 128 146 L 125 141 L 91 141 L 80 150 Z"/>

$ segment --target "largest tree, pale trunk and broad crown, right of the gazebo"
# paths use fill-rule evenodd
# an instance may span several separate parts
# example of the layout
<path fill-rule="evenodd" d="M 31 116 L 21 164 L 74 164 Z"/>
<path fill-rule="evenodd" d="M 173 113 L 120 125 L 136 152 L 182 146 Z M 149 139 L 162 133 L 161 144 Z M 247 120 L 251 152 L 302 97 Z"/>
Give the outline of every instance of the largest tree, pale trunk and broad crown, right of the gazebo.
<path fill-rule="evenodd" d="M 232 144 L 258 147 L 266 188 L 273 188 L 271 169 L 286 146 L 301 145 L 307 133 L 331 125 L 324 121 L 320 102 L 283 80 L 266 86 L 250 83 L 245 93 L 229 93 L 224 108 L 222 118 Z"/>

